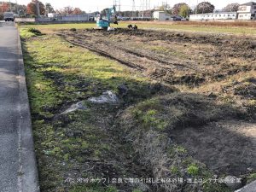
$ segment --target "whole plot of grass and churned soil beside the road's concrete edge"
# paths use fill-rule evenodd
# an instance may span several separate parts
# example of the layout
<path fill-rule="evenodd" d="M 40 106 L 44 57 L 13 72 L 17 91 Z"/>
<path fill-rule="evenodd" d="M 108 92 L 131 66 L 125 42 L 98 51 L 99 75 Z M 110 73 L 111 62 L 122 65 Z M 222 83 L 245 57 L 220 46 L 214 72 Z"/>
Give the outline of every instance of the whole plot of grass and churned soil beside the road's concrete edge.
<path fill-rule="evenodd" d="M 231 192 L 255 179 L 252 37 L 140 29 L 23 37 L 42 191 Z M 119 102 L 91 102 L 109 90 Z M 187 180 L 226 176 L 241 183 Z"/>

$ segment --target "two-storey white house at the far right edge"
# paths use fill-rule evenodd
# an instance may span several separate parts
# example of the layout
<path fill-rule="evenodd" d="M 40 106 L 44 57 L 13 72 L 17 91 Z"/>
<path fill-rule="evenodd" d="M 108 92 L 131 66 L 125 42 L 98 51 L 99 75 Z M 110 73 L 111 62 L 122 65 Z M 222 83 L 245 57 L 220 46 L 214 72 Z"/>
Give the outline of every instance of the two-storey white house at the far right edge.
<path fill-rule="evenodd" d="M 238 8 L 238 20 L 256 20 L 256 3 L 241 4 Z"/>

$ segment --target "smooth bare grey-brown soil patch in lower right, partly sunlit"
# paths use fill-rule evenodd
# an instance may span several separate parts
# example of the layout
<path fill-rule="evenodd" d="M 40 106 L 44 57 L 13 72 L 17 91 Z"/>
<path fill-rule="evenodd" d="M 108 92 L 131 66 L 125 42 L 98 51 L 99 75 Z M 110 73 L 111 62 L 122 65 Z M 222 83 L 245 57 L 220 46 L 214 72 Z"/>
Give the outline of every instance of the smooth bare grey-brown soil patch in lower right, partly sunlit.
<path fill-rule="evenodd" d="M 172 138 L 217 174 L 240 176 L 256 169 L 256 125 L 219 121 L 201 128 L 172 131 Z"/>

